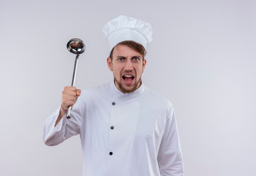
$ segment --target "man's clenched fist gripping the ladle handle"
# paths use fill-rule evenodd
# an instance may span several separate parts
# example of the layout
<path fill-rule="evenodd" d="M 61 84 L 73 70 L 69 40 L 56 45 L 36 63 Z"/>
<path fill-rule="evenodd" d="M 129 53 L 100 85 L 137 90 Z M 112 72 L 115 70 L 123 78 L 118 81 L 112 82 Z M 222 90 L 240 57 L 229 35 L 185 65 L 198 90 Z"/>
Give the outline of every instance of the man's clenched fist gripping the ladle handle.
<path fill-rule="evenodd" d="M 62 91 L 62 107 L 67 110 L 69 106 L 72 106 L 76 103 L 78 97 L 81 95 L 81 90 L 76 89 L 74 86 L 66 86 Z"/>

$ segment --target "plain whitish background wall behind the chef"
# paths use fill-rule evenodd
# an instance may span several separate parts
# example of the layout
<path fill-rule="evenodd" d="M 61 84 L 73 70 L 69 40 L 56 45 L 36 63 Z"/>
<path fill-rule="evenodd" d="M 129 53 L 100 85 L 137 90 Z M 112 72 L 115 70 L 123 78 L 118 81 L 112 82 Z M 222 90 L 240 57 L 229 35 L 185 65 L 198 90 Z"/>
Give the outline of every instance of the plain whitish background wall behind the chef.
<path fill-rule="evenodd" d="M 81 176 L 79 136 L 43 143 L 70 86 L 112 81 L 101 32 L 127 15 L 150 22 L 144 84 L 173 103 L 186 176 L 255 176 L 255 0 L 0 0 L 0 175 Z"/>

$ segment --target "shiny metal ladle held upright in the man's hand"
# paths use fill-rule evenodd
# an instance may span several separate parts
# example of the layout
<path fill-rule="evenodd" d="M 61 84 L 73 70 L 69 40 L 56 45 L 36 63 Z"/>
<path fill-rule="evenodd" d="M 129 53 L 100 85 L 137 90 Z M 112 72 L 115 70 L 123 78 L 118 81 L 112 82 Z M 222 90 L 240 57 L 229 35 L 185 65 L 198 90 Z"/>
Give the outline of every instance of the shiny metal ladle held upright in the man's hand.
<path fill-rule="evenodd" d="M 77 60 L 80 54 L 82 54 L 85 51 L 85 44 L 82 40 L 73 38 L 69 42 L 67 42 L 67 50 L 70 51 L 73 54 L 76 54 L 76 60 L 74 65 L 74 72 L 73 72 L 73 78 L 72 78 L 72 84 L 71 86 L 74 86 L 75 79 L 76 79 L 76 66 L 77 66 Z M 70 119 L 70 109 L 71 106 L 67 108 L 67 119 Z"/>

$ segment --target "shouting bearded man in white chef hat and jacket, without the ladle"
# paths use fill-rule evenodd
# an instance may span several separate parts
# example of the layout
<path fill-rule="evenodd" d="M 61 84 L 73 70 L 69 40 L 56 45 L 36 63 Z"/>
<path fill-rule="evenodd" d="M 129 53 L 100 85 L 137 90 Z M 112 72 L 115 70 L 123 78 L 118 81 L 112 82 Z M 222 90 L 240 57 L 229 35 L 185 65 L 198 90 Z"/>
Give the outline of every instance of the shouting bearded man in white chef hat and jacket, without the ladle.
<path fill-rule="evenodd" d="M 45 144 L 80 134 L 83 176 L 183 176 L 172 105 L 141 81 L 151 25 L 121 15 L 103 32 L 114 81 L 83 92 L 65 87 L 61 107 L 45 123 Z"/>

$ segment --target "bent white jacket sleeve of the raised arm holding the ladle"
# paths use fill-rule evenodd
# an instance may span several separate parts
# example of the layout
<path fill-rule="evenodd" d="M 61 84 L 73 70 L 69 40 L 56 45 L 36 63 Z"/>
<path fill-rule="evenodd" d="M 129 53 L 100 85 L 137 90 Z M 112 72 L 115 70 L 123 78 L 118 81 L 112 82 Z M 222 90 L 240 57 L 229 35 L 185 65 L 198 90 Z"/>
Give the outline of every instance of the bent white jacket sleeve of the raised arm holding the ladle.
<path fill-rule="evenodd" d="M 58 118 L 61 107 L 58 107 L 58 109 L 47 118 L 43 127 L 43 141 L 45 145 L 58 145 L 71 136 L 75 136 L 80 133 L 83 115 L 82 107 L 83 101 L 79 97 L 70 112 L 71 118 L 67 119 L 67 115 L 65 115 L 55 127 L 54 124 Z"/>

